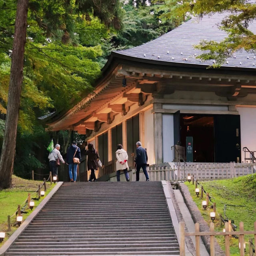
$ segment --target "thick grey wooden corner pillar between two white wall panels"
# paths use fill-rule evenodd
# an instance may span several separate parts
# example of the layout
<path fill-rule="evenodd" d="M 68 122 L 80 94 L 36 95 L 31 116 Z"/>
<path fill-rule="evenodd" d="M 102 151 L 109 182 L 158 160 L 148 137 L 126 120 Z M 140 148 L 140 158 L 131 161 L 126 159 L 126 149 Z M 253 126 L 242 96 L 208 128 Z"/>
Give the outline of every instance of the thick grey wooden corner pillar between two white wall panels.
<path fill-rule="evenodd" d="M 154 123 L 154 152 L 156 164 L 161 164 L 163 159 L 163 115 L 162 113 L 153 114 Z"/>

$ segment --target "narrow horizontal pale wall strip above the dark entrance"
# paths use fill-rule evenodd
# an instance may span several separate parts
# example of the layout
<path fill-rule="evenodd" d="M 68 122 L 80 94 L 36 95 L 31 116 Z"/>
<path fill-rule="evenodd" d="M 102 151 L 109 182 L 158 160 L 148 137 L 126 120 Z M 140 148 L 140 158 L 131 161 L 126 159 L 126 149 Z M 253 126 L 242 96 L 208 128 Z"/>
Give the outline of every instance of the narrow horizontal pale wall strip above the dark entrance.
<path fill-rule="evenodd" d="M 228 111 L 228 106 L 212 106 L 212 105 L 176 105 L 176 104 L 163 104 L 164 109 L 177 109 L 177 110 L 222 110 Z"/>

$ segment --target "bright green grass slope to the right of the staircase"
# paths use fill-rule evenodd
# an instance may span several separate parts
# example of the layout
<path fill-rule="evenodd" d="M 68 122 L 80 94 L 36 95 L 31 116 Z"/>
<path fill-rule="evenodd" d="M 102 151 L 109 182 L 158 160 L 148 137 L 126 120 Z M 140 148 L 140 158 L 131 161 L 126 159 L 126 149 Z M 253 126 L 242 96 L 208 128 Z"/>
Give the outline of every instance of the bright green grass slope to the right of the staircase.
<path fill-rule="evenodd" d="M 234 178 L 230 180 L 214 180 L 199 182 L 204 186 L 204 190 L 209 193 L 211 200 L 216 202 L 216 212 L 224 216 L 224 207 L 226 205 L 226 216 L 229 220 L 234 220 L 234 224 L 239 230 L 239 222 L 244 222 L 244 230 L 253 230 L 254 222 L 256 221 L 256 174 L 250 174 L 244 177 Z M 212 209 L 203 210 L 202 199 L 196 197 L 195 186 L 185 182 L 190 190 L 190 194 L 196 202 L 203 218 L 210 223 L 210 212 Z M 198 186 L 200 188 L 200 185 Z M 206 195 L 204 194 L 204 199 Z M 219 219 L 218 214 L 216 218 Z M 216 230 L 222 231 L 224 226 L 220 227 L 218 220 L 214 221 Z M 245 236 L 246 242 L 253 236 Z M 222 249 L 224 249 L 224 236 L 217 237 L 217 240 Z M 230 239 L 230 253 L 232 256 L 239 254 L 238 239 Z M 248 254 L 248 243 L 246 243 L 246 255 Z"/>

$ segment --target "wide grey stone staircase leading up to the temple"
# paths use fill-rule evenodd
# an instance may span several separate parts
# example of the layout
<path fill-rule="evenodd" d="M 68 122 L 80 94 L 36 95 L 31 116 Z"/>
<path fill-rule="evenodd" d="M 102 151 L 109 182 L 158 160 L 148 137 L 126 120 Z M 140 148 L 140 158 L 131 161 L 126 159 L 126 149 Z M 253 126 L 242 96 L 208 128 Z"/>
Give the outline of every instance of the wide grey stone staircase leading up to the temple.
<path fill-rule="evenodd" d="M 63 183 L 5 255 L 177 255 L 161 182 Z"/>

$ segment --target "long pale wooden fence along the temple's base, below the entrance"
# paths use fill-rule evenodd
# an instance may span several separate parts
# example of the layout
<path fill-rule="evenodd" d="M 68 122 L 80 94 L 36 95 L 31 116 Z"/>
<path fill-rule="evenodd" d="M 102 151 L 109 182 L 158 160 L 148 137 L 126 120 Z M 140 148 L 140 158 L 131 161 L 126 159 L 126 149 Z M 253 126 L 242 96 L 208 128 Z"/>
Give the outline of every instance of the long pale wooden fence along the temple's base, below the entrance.
<path fill-rule="evenodd" d="M 187 180 L 188 174 L 194 175 L 197 180 L 216 180 L 229 179 L 247 174 L 252 174 L 255 164 L 244 163 L 210 163 L 210 164 L 194 164 L 185 166 L 177 166 L 172 169 L 167 166 L 147 167 L 148 176 L 151 181 L 159 180 Z M 145 176 L 140 171 L 140 180 L 144 180 Z M 132 170 L 132 180 L 136 180 L 136 170 Z"/>

